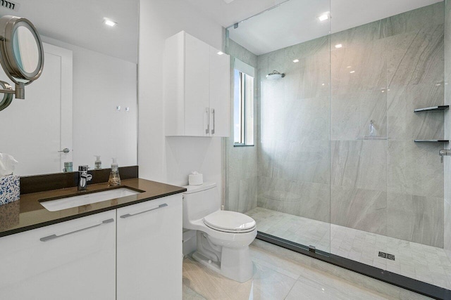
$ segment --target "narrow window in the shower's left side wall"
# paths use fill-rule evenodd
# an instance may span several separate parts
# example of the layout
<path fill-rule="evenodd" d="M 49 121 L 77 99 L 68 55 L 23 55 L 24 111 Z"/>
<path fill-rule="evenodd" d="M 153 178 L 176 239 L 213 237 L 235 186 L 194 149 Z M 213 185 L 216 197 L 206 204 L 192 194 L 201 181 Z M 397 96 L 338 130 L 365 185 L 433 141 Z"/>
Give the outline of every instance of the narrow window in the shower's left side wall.
<path fill-rule="evenodd" d="M 233 140 L 236 146 L 254 145 L 254 77 L 235 69 Z"/>

